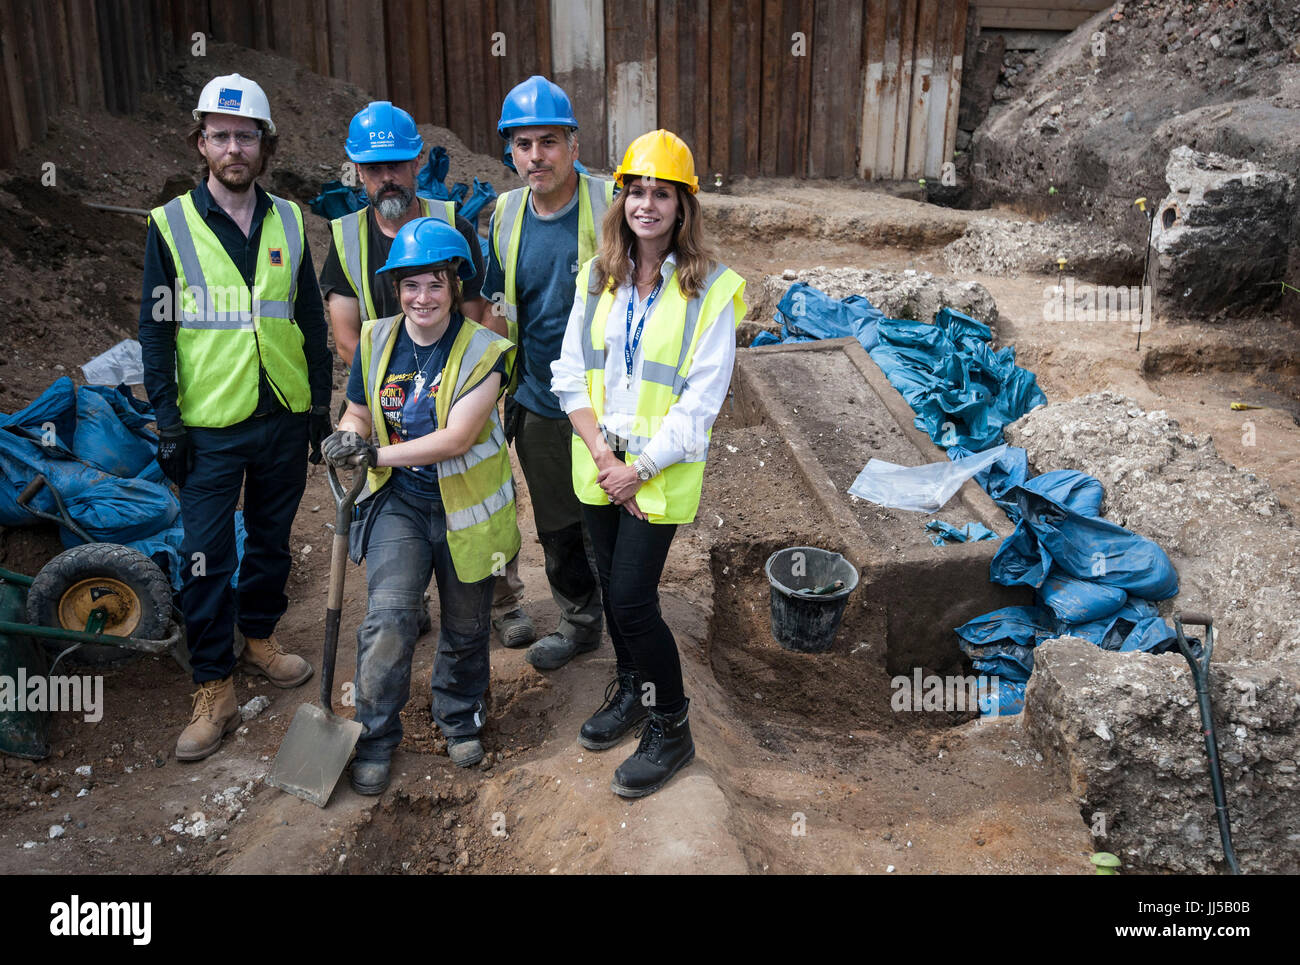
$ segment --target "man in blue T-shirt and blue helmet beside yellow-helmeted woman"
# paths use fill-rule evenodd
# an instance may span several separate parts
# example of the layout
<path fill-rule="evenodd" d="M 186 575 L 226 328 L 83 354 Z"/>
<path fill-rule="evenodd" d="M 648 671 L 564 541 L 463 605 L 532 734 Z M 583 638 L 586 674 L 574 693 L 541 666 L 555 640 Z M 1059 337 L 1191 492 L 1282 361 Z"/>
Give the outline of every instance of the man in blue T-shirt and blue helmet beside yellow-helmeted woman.
<path fill-rule="evenodd" d="M 554 670 L 599 646 L 603 622 L 573 493 L 572 427 L 550 381 L 573 306 L 573 280 L 595 255 L 614 182 L 576 170 L 577 118 L 564 91 L 545 77 L 529 77 L 506 95 L 497 131 L 524 187 L 498 198 L 493 212 L 484 286 L 493 310 L 484 324 L 515 346 L 507 434 L 528 480 L 546 577 L 560 607 L 559 627 L 529 648 L 528 662 Z"/>

